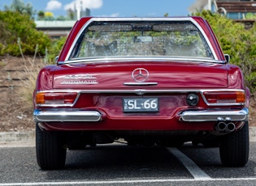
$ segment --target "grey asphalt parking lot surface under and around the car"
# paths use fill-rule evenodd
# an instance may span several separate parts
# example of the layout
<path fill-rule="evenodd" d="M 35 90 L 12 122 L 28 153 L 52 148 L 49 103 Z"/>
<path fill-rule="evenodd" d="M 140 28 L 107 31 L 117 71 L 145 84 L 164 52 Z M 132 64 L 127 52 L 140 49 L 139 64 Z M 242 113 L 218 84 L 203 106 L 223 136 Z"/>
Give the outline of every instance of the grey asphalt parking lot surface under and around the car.
<path fill-rule="evenodd" d="M 99 145 L 67 150 L 62 170 L 42 171 L 34 146 L 2 147 L 0 186 L 10 185 L 255 185 L 256 142 L 245 167 L 225 167 L 219 148 Z"/>

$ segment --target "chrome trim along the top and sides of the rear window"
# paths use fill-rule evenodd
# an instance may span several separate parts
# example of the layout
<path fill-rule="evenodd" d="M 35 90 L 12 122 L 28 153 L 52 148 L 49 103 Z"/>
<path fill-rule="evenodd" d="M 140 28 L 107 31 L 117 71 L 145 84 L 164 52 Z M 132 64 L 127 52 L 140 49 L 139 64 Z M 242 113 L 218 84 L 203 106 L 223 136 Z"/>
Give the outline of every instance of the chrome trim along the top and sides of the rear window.
<path fill-rule="evenodd" d="M 164 20 L 167 21 L 191 21 L 202 33 L 204 36 L 206 43 L 210 47 L 211 53 L 215 57 L 215 60 L 218 61 L 217 55 L 215 53 L 215 50 L 213 49 L 212 45 L 210 44 L 210 40 L 208 40 L 206 33 L 203 32 L 202 27 L 192 18 L 192 17 L 183 17 L 183 18 L 164 18 Z M 72 43 L 72 46 L 70 50 L 67 53 L 67 57 L 65 58 L 65 61 L 69 61 L 69 58 L 71 56 L 71 53 L 75 47 L 75 44 L 80 37 L 81 33 L 85 31 L 85 28 L 88 27 L 88 25 L 94 21 L 163 21 L 163 18 L 91 18 L 89 19 L 83 27 L 81 27 L 80 32 L 76 35 L 75 40 Z M 66 63 L 66 62 L 65 62 Z M 58 63 L 59 64 L 59 63 Z"/>

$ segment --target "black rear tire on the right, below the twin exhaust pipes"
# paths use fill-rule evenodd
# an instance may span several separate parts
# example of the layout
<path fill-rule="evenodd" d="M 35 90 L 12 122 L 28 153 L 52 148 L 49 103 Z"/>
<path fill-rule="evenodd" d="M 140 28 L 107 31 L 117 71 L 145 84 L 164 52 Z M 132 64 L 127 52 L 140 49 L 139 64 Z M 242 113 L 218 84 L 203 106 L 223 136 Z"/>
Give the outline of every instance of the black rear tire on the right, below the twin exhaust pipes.
<path fill-rule="evenodd" d="M 228 167 L 244 167 L 249 157 L 248 122 L 236 132 L 223 137 L 219 146 L 221 162 Z"/>

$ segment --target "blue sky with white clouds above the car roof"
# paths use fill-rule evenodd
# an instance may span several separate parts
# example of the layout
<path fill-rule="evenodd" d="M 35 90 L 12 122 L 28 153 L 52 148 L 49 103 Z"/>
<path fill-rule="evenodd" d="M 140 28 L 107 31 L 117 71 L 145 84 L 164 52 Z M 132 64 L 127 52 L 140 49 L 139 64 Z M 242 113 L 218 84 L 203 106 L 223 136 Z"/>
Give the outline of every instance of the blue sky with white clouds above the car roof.
<path fill-rule="evenodd" d="M 89 8 L 91 16 L 107 17 L 159 17 L 189 15 L 188 8 L 196 0 L 23 0 L 30 2 L 36 11 L 50 11 L 54 17 L 66 16 L 67 9 L 83 2 L 83 8 Z M 11 0 L 0 0 L 0 10 L 10 6 Z"/>

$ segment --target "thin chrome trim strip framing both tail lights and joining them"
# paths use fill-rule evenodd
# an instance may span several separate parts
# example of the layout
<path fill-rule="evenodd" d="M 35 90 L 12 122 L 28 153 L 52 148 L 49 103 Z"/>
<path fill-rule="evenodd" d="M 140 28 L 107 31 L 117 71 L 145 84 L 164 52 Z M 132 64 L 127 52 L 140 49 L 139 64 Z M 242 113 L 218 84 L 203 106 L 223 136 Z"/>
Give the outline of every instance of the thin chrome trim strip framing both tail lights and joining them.
<path fill-rule="evenodd" d="M 37 91 L 38 92 L 76 92 L 77 96 L 73 104 L 36 104 L 37 107 L 50 107 L 50 108 L 57 108 L 57 107 L 73 107 L 77 100 L 80 97 L 80 94 L 82 93 L 105 93 L 105 94 L 115 94 L 115 93 L 121 93 L 121 94 L 137 94 L 137 95 L 145 95 L 145 94 L 158 94 L 158 93 L 199 93 L 202 95 L 202 99 L 206 103 L 207 106 L 243 106 L 245 103 L 216 103 L 216 104 L 209 104 L 207 102 L 207 99 L 203 92 L 205 91 L 212 91 L 212 92 L 218 92 L 218 91 L 241 91 L 245 92 L 242 89 L 175 89 L 175 90 L 168 90 L 168 89 L 134 89 L 134 90 L 52 90 L 52 91 Z"/>

